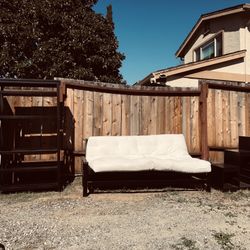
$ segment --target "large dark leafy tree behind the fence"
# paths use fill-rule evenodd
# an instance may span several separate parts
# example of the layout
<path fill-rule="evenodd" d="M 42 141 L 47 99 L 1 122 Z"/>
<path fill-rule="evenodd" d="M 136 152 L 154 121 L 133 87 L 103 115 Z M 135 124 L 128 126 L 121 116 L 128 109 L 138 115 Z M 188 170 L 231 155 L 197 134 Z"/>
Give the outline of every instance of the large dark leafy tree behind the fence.
<path fill-rule="evenodd" d="M 1 0 L 0 77 L 121 83 L 125 57 L 112 18 L 92 10 L 96 2 Z"/>

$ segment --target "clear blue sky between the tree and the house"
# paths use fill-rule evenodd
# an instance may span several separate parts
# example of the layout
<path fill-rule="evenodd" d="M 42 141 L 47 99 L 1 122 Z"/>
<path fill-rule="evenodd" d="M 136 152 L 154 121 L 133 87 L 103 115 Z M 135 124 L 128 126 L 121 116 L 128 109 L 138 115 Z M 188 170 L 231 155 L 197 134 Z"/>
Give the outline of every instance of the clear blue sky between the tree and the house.
<path fill-rule="evenodd" d="M 175 52 L 201 14 L 246 3 L 237 0 L 99 0 L 97 13 L 113 6 L 119 51 L 126 59 L 120 69 L 128 84 L 149 73 L 178 65 Z"/>

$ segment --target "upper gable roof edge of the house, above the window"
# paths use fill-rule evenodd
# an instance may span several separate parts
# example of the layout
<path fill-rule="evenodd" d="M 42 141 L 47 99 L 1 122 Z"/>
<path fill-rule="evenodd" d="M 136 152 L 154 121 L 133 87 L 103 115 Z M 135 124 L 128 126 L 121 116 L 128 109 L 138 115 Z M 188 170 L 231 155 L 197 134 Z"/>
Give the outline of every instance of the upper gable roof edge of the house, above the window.
<path fill-rule="evenodd" d="M 185 48 L 189 44 L 190 40 L 192 39 L 193 35 L 195 32 L 199 29 L 201 24 L 207 20 L 226 16 L 226 15 L 231 15 L 231 14 L 236 14 L 244 11 L 249 11 L 250 10 L 250 4 L 241 4 L 241 5 L 236 5 L 230 8 L 210 12 L 207 14 L 203 14 L 200 16 L 196 24 L 194 25 L 193 29 L 189 32 L 188 36 L 186 39 L 183 41 L 179 49 L 176 51 L 175 55 L 176 57 L 183 57 L 185 55 Z"/>

